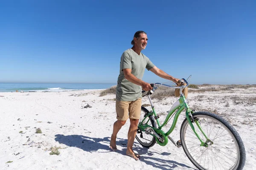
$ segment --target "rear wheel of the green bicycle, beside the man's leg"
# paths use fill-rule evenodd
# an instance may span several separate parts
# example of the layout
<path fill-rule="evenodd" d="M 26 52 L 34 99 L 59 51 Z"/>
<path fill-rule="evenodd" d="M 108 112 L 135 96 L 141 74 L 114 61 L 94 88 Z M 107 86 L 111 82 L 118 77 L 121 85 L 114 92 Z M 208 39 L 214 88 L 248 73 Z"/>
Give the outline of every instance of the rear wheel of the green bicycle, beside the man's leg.
<path fill-rule="evenodd" d="M 141 107 L 139 124 L 144 119 L 144 117 L 147 116 L 148 114 L 149 114 L 149 111 L 146 108 Z M 148 119 L 150 119 L 150 121 L 148 121 Z M 154 122 L 153 116 L 148 116 L 148 118 L 145 119 L 144 122 L 147 122 L 147 121 L 148 121 L 148 125 L 152 127 L 157 127 L 156 123 Z M 139 127 L 137 129 L 135 138 L 143 147 L 147 147 L 147 148 L 154 146 L 154 144 L 156 143 L 156 139 L 154 138 L 154 136 L 150 134 L 146 134 L 145 131 L 141 130 Z"/>

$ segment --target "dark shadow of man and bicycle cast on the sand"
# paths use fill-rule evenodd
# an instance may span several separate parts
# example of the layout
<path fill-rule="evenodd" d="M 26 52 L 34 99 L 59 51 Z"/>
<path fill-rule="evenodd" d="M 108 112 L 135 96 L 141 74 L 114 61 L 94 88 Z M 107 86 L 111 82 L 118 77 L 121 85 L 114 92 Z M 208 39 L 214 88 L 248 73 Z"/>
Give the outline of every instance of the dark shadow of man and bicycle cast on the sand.
<path fill-rule="evenodd" d="M 92 138 L 92 137 L 82 136 L 82 135 L 64 136 L 61 134 L 57 134 L 57 135 L 55 135 L 55 141 L 57 141 L 61 144 L 65 144 L 70 147 L 78 147 L 78 148 L 80 148 L 84 151 L 90 152 L 90 153 L 92 153 L 92 152 L 101 152 L 101 153 L 102 152 L 112 152 L 111 149 L 109 148 L 110 137 L 105 137 L 102 139 L 102 138 Z M 127 144 L 127 139 L 120 139 L 120 138 L 116 139 L 117 146 L 122 145 L 123 147 L 126 147 L 126 144 Z M 171 153 L 152 152 L 152 151 L 148 150 L 148 148 L 140 147 L 140 144 L 137 142 L 134 142 L 133 150 L 140 154 L 140 161 L 143 161 L 143 162 L 145 162 L 145 164 L 151 165 L 152 167 L 155 167 L 155 168 L 160 168 L 162 170 L 170 170 L 170 169 L 173 169 L 178 166 L 192 168 L 192 167 L 187 166 L 186 164 L 180 164 L 177 161 L 170 161 L 170 160 L 155 158 L 153 156 L 154 154 L 168 156 Z M 122 150 L 117 150 L 116 152 L 126 156 L 125 148 L 123 148 Z M 192 168 L 192 169 L 194 169 L 194 168 Z M 196 169 L 194 169 L 194 170 L 196 170 Z"/>

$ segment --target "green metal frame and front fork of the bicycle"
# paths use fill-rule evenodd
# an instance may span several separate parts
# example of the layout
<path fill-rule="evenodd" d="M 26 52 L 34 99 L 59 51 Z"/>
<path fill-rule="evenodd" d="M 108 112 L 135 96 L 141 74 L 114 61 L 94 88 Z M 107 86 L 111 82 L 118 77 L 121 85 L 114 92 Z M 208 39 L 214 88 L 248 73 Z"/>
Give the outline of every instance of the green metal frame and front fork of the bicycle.
<path fill-rule="evenodd" d="M 195 133 L 195 135 L 197 136 L 197 138 L 199 139 L 199 141 L 201 142 L 200 146 L 204 146 L 204 147 L 208 147 L 208 144 L 207 142 L 211 142 L 212 141 L 207 137 L 207 135 L 204 133 L 204 131 L 202 130 L 201 126 L 199 125 L 198 121 L 197 120 L 194 120 L 192 118 L 192 114 L 194 113 L 191 109 L 189 109 L 189 105 L 187 103 L 187 100 L 186 100 L 186 97 L 181 94 L 180 95 L 180 99 L 178 100 L 180 102 L 179 105 L 175 106 L 174 108 L 172 108 L 168 115 L 166 116 L 166 119 L 164 120 L 163 124 L 160 125 L 160 122 L 158 119 L 156 119 L 156 122 L 157 122 L 157 126 L 158 127 L 152 127 L 150 125 L 148 125 L 148 122 L 146 122 L 146 124 L 142 124 L 142 122 L 145 121 L 145 119 L 148 118 L 148 116 L 154 116 L 154 117 L 157 117 L 157 113 L 154 109 L 154 105 L 151 101 L 151 98 L 150 98 L 150 95 L 148 95 L 148 99 L 150 101 L 150 104 L 151 104 L 151 108 L 152 108 L 152 112 L 150 112 L 147 116 L 144 117 L 144 119 L 141 121 L 139 127 L 142 129 L 142 130 L 145 130 L 147 127 L 151 127 L 156 133 L 153 133 L 154 134 L 151 134 L 152 136 L 154 136 L 156 138 L 156 141 L 158 144 L 160 144 L 161 146 L 165 146 L 167 143 L 168 143 L 168 138 L 175 144 L 175 142 L 173 141 L 173 139 L 171 137 L 169 137 L 169 135 L 172 133 L 172 131 L 175 129 L 175 126 L 177 124 L 177 119 L 179 118 L 180 116 L 180 113 L 186 109 L 186 119 L 188 120 L 189 122 L 189 125 L 191 126 L 193 132 Z M 165 126 L 168 122 L 169 122 L 169 119 L 171 118 L 171 116 L 175 114 L 175 117 L 174 117 L 174 120 L 172 122 L 172 126 L 170 127 L 170 129 L 165 133 L 163 132 L 162 127 Z M 149 121 L 150 119 L 148 119 Z M 155 120 L 154 120 L 155 121 Z M 198 126 L 199 130 L 203 133 L 203 135 L 205 136 L 205 138 L 207 139 L 206 142 L 204 142 L 201 137 L 198 135 L 198 133 L 196 132 L 195 130 L 195 127 L 194 125 L 192 124 L 192 121 L 196 123 L 196 125 Z M 160 136 L 159 136 L 160 135 Z M 175 144 L 177 146 L 177 144 Z"/>

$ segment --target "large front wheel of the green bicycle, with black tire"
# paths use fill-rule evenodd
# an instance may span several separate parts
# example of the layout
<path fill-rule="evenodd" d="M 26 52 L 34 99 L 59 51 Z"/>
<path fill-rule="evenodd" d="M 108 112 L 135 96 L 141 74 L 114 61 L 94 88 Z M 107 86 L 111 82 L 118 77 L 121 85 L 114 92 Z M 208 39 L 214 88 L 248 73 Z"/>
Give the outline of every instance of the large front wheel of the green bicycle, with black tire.
<path fill-rule="evenodd" d="M 193 132 L 187 119 L 180 128 L 180 140 L 189 160 L 200 170 L 241 170 L 245 163 L 245 149 L 241 137 L 229 122 L 209 112 L 193 113 L 210 141 L 207 141 L 198 126 L 193 123 L 196 132 L 208 147 Z"/>

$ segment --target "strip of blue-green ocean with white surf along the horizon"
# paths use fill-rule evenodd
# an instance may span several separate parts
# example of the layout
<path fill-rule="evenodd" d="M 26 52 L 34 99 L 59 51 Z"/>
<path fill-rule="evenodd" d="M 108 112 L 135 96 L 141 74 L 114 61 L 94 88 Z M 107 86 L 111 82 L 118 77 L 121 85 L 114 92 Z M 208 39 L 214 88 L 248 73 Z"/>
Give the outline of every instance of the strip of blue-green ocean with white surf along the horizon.
<path fill-rule="evenodd" d="M 43 92 L 106 89 L 116 84 L 93 83 L 0 83 L 0 92 Z"/>

